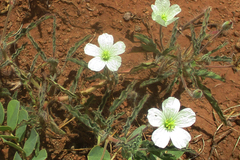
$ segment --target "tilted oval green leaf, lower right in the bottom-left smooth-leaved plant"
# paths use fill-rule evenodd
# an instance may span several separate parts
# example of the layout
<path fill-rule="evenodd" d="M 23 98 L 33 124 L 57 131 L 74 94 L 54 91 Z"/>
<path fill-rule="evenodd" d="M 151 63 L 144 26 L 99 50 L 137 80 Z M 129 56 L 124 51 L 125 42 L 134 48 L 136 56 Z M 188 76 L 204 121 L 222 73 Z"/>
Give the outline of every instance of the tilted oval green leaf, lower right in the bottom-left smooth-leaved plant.
<path fill-rule="evenodd" d="M 23 150 L 26 152 L 26 156 L 29 156 L 30 154 L 32 154 L 32 152 L 36 146 L 37 139 L 38 139 L 38 133 L 33 128 L 31 130 L 29 138 L 27 139 L 27 141 L 25 142 L 24 147 L 23 147 Z"/>

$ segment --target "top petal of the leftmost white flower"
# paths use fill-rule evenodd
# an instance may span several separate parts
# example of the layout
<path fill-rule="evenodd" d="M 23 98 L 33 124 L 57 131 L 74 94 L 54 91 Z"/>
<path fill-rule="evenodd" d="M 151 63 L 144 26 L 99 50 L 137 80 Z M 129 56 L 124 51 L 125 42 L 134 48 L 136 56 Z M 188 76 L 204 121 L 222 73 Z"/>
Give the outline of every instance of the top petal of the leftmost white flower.
<path fill-rule="evenodd" d="M 113 36 L 103 33 L 98 37 L 98 44 L 102 50 L 109 50 L 113 45 Z"/>

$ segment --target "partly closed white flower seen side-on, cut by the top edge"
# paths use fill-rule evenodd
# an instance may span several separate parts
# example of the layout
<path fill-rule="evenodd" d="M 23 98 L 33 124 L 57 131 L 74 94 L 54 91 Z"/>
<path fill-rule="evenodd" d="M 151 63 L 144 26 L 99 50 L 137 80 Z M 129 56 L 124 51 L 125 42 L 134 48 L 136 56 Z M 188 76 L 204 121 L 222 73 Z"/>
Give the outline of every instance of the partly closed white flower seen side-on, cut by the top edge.
<path fill-rule="evenodd" d="M 151 7 L 152 19 L 164 27 L 176 21 L 178 17 L 174 17 L 181 12 L 181 8 L 177 4 L 170 7 L 169 0 L 156 0 L 155 5 L 151 5 Z"/>

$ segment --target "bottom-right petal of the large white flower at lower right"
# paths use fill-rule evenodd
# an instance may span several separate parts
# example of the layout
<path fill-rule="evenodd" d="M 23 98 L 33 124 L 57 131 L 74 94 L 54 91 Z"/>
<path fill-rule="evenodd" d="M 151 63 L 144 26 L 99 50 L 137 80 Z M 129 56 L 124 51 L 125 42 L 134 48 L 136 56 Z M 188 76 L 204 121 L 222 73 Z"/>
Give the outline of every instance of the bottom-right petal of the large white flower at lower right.
<path fill-rule="evenodd" d="M 191 140 L 190 134 L 177 126 L 174 128 L 174 131 L 171 132 L 170 137 L 173 145 L 179 149 L 186 147 Z"/>

